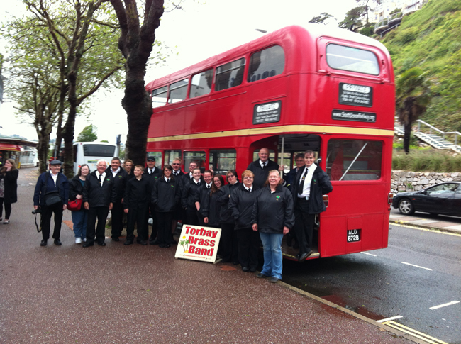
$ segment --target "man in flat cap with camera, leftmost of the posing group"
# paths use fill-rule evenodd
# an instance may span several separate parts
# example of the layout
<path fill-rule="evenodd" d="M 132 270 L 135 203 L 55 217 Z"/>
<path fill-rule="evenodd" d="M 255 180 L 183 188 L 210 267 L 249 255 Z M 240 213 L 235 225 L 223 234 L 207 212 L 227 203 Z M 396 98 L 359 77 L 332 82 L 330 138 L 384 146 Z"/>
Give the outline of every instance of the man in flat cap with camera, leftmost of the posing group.
<path fill-rule="evenodd" d="M 40 246 L 46 246 L 50 238 L 51 216 L 55 214 L 55 229 L 52 238 L 55 245 L 62 245 L 60 240 L 62 211 L 67 209 L 69 199 L 69 182 L 64 174 L 60 172 L 62 162 L 52 160 L 50 171 L 43 172 L 38 177 L 33 194 L 33 208 L 42 210 L 42 242 Z"/>

